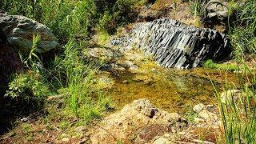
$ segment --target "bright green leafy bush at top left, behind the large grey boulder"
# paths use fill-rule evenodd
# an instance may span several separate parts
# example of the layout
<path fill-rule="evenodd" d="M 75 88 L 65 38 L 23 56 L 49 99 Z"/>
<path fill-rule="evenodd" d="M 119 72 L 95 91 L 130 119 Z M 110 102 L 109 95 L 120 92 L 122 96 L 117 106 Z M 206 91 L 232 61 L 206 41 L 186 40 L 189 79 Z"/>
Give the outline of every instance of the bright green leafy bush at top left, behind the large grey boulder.
<path fill-rule="evenodd" d="M 10 14 L 24 15 L 50 27 L 62 44 L 76 35 L 86 36 L 94 26 L 94 0 L 3 0 L 0 9 Z M 1 4 L 1 3 L 0 3 Z"/>

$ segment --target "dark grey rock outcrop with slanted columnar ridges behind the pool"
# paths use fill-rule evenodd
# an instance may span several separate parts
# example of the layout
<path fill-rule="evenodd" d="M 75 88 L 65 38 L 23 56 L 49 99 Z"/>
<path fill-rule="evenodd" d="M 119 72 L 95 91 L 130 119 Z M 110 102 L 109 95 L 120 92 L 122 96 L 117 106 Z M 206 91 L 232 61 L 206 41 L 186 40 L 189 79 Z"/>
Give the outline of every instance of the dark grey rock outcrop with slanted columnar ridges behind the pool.
<path fill-rule="evenodd" d="M 230 41 L 216 30 L 186 26 L 172 19 L 141 22 L 130 33 L 115 38 L 112 45 L 138 47 L 153 54 L 161 66 L 188 69 L 206 59 L 223 61 L 230 57 Z"/>

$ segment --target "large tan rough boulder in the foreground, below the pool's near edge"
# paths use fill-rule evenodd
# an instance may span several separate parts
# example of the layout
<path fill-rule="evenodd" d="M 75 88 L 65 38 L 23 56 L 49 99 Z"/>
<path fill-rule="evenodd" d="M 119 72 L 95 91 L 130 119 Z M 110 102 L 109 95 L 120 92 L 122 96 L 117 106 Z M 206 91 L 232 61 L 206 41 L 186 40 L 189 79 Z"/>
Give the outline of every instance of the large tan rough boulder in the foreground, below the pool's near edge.
<path fill-rule="evenodd" d="M 186 128 L 177 113 L 168 113 L 151 105 L 147 99 L 127 104 L 122 110 L 104 118 L 90 136 L 91 143 L 147 143 L 166 132 Z"/>

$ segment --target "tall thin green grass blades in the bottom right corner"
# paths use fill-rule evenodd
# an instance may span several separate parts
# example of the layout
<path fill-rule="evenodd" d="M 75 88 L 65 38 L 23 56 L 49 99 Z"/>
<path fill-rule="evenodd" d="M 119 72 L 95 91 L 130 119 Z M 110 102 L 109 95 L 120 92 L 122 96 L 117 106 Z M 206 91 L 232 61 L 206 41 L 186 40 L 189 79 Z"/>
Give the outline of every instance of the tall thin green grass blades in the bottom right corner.
<path fill-rule="evenodd" d="M 240 90 L 239 94 L 226 94 L 227 101 L 222 102 L 218 96 L 218 109 L 222 116 L 222 127 L 219 143 L 255 143 L 256 142 L 256 77 L 247 66 L 242 74 L 238 74 L 240 87 L 226 82 L 226 90 Z"/>

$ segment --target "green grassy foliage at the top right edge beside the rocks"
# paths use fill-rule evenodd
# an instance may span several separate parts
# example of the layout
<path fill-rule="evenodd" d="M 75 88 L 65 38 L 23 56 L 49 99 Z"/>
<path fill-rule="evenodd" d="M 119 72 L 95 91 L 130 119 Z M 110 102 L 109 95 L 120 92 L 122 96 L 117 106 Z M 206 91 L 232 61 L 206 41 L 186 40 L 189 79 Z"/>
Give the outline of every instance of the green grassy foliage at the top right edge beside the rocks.
<path fill-rule="evenodd" d="M 244 5 L 231 2 L 236 21 L 229 19 L 229 34 L 234 46 L 235 58 L 241 60 L 246 54 L 256 53 L 256 2 L 248 0 Z"/>

